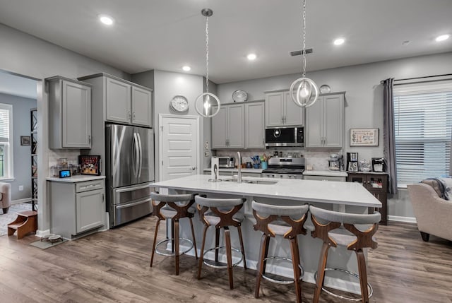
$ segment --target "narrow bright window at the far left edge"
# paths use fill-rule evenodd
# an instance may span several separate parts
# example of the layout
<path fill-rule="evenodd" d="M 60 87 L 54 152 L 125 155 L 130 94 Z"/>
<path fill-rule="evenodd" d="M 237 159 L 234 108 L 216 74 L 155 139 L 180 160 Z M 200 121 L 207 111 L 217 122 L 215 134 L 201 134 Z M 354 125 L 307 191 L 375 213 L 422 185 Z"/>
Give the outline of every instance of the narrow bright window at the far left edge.
<path fill-rule="evenodd" d="M 13 106 L 0 103 L 0 179 L 13 178 Z"/>

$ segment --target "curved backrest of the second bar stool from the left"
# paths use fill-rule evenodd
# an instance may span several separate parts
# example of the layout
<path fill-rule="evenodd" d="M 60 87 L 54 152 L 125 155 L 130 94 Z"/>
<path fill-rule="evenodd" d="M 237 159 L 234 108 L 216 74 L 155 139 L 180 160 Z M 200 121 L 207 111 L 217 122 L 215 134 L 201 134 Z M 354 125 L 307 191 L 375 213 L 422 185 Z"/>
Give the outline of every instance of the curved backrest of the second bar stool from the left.
<path fill-rule="evenodd" d="M 242 208 L 246 198 L 206 198 L 204 196 L 195 196 L 197 208 L 199 210 L 201 221 L 209 225 L 204 215 L 207 210 L 211 210 L 212 213 L 220 218 L 220 222 L 217 223 L 217 227 L 224 226 L 238 226 L 240 222 L 234 220 L 234 215 Z"/>

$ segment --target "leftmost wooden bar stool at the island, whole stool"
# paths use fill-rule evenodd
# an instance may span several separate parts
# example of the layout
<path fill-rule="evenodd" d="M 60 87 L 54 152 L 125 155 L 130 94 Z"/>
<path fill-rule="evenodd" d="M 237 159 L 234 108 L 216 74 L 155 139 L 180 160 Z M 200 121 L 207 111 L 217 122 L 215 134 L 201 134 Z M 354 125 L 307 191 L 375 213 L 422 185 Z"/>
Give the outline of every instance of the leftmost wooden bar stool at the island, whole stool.
<path fill-rule="evenodd" d="M 177 195 L 164 195 L 153 192 L 150 194 L 153 203 L 153 215 L 155 215 L 158 220 L 155 226 L 153 251 L 150 256 L 150 267 L 153 267 L 154 253 L 160 254 L 162 256 L 174 256 L 174 261 L 176 265 L 176 275 L 179 275 L 179 256 L 186 254 L 190 249 L 194 248 L 196 259 L 198 259 L 198 251 L 196 250 L 196 239 L 195 232 L 193 228 L 193 218 L 196 209 L 192 207 L 194 204 L 194 196 L 191 194 L 177 194 Z M 191 225 L 191 235 L 193 241 L 186 238 L 179 238 L 179 220 L 182 218 L 189 218 Z M 161 220 L 171 220 L 172 224 L 172 237 L 170 239 L 165 239 L 157 243 L 157 233 L 160 226 Z M 189 244 L 189 248 L 184 251 L 179 251 L 180 242 L 184 241 Z M 171 250 L 169 251 L 167 244 L 171 242 Z M 160 249 L 163 247 L 163 249 Z"/>

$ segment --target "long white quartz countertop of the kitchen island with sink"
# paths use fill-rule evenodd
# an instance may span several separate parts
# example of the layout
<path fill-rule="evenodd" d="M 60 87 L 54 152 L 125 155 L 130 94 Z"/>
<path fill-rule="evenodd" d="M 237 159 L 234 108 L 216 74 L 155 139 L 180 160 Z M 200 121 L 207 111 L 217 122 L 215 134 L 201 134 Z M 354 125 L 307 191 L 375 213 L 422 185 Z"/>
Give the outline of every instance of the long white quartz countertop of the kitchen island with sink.
<path fill-rule="evenodd" d="M 243 180 L 266 180 L 276 184 L 249 184 L 237 182 L 208 182 L 209 175 L 196 174 L 153 184 L 155 187 L 198 191 L 201 193 L 256 196 L 307 203 L 333 203 L 350 206 L 381 207 L 381 202 L 355 182 L 323 182 L 300 179 L 271 179 L 243 177 Z M 221 177 L 220 179 L 232 179 Z"/>

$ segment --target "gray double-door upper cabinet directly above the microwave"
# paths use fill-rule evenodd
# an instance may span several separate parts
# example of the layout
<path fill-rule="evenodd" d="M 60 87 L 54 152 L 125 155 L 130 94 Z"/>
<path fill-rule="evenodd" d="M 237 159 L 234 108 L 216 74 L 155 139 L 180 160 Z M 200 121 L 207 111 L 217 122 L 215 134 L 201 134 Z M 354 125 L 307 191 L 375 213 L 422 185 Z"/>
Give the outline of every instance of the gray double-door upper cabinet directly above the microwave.
<path fill-rule="evenodd" d="M 304 125 L 304 108 L 295 105 L 289 90 L 266 92 L 266 127 Z"/>

